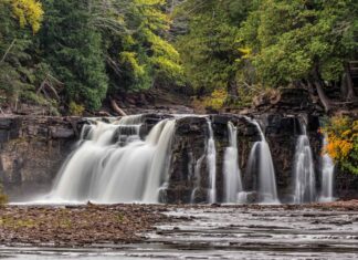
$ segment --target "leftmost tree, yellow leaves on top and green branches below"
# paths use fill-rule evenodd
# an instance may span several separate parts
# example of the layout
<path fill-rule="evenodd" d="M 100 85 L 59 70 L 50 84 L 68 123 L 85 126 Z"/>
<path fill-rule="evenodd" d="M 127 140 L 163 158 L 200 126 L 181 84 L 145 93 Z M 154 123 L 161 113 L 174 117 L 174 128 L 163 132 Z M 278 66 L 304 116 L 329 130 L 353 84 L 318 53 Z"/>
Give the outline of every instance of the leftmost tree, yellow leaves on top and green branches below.
<path fill-rule="evenodd" d="M 15 107 L 24 97 L 39 101 L 34 95 L 39 66 L 32 43 L 42 15 L 38 1 L 0 0 L 0 91 L 2 103 L 10 106 Z"/>

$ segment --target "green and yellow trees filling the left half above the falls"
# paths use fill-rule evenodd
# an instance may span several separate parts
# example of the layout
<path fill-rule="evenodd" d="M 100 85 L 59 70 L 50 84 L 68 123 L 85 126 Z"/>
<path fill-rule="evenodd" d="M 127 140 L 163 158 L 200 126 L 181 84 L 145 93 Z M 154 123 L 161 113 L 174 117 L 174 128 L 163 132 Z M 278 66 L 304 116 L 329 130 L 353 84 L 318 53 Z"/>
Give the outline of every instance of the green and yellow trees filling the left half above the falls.
<path fill-rule="evenodd" d="M 162 0 L 0 0 L 0 95 L 94 112 L 106 95 L 179 85 L 179 53 L 166 40 Z"/>

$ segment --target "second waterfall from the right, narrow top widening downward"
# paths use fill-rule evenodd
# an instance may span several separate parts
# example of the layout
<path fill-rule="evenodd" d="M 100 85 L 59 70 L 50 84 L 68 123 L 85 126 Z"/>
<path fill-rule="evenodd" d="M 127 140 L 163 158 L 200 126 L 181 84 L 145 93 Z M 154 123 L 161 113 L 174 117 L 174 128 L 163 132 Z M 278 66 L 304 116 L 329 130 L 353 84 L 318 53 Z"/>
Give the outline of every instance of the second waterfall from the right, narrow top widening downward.
<path fill-rule="evenodd" d="M 306 127 L 302 125 L 303 134 L 298 136 L 294 162 L 294 202 L 312 202 L 316 199 L 316 176 L 313 154 Z"/>

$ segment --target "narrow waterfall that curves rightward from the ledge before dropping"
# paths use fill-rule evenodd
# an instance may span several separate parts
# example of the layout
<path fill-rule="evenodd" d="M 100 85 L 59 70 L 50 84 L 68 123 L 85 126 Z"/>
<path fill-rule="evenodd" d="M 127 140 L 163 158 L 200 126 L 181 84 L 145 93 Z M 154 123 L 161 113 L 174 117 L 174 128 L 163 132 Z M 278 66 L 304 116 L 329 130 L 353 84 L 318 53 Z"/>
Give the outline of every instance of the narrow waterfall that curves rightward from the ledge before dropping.
<path fill-rule="evenodd" d="M 261 137 L 261 141 L 254 143 L 252 146 L 248 163 L 249 170 L 252 170 L 253 168 L 259 170 L 257 191 L 260 200 L 264 204 L 280 204 L 275 169 L 272 162 L 270 146 L 257 121 L 249 117 L 246 117 L 246 119 L 256 126 Z"/>

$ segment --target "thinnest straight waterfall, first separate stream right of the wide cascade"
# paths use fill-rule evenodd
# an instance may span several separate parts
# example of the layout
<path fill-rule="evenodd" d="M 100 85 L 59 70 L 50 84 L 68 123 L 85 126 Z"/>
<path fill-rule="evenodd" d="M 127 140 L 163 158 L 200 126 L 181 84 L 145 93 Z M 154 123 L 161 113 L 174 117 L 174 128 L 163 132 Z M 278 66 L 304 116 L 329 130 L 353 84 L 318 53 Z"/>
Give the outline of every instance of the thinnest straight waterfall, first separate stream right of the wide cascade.
<path fill-rule="evenodd" d="M 209 168 L 210 189 L 208 194 L 208 200 L 210 204 L 217 202 L 217 149 L 215 141 L 213 136 L 211 121 L 208 119 L 209 138 L 207 150 L 207 165 Z"/>

